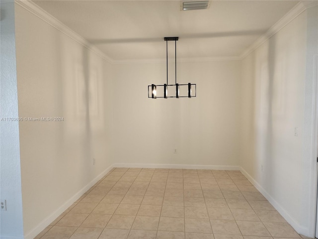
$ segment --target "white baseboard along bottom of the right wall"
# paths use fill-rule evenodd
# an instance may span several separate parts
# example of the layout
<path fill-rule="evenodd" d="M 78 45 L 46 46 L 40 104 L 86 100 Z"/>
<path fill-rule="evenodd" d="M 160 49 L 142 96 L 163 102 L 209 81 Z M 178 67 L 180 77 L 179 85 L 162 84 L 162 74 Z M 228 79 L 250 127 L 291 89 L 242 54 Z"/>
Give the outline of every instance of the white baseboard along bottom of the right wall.
<path fill-rule="evenodd" d="M 252 178 L 242 167 L 240 171 L 244 176 L 254 185 L 254 187 L 267 199 L 268 202 L 282 215 L 282 217 L 295 229 L 298 234 L 308 235 L 308 229 L 300 226 L 296 220 L 290 216 L 286 210 L 274 199 L 271 195 L 254 179 Z"/>

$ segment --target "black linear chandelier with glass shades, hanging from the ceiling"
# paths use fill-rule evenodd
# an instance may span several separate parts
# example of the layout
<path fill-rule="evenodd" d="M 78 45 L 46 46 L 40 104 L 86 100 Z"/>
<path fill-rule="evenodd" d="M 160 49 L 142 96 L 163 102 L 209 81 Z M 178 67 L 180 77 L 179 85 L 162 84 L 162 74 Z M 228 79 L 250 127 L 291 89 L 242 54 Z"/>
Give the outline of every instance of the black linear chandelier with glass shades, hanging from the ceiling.
<path fill-rule="evenodd" d="M 167 62 L 167 83 L 163 85 L 155 85 L 151 84 L 148 86 L 148 98 L 157 99 L 157 98 L 180 98 L 180 97 L 196 97 L 196 91 L 197 87 L 196 84 L 178 84 L 177 83 L 177 40 L 179 37 L 164 37 L 164 40 L 166 41 L 166 62 Z M 174 58 L 175 58 L 175 84 L 174 85 L 168 85 L 168 41 L 174 41 Z M 193 86 L 193 87 L 192 87 Z M 162 88 L 163 93 L 161 96 L 157 95 L 157 87 Z M 168 95 L 168 87 L 173 91 L 175 89 L 175 94 Z M 181 88 L 181 91 L 180 91 Z M 182 91 L 183 88 L 183 91 Z M 193 90 L 193 94 L 192 94 Z"/>

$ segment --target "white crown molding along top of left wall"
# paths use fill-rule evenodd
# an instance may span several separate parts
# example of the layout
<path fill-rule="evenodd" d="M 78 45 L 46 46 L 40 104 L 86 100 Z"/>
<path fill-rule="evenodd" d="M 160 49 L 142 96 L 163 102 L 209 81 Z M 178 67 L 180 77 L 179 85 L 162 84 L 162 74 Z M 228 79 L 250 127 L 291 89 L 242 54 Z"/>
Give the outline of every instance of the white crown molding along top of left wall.
<path fill-rule="evenodd" d="M 81 37 L 78 33 L 73 31 L 71 28 L 67 27 L 64 23 L 56 19 L 54 16 L 52 16 L 47 11 L 43 10 L 41 7 L 39 7 L 37 4 L 30 0 L 15 0 L 15 3 L 27 11 L 31 12 L 41 20 L 45 21 L 49 25 L 53 26 L 63 34 L 67 35 L 68 37 L 72 38 L 82 46 L 86 47 L 90 51 L 94 52 L 96 55 L 100 56 L 102 59 L 109 63 L 113 63 L 113 59 L 106 56 L 102 51 L 100 51 L 97 47 L 93 46 L 91 43 L 89 43 L 86 39 Z"/>

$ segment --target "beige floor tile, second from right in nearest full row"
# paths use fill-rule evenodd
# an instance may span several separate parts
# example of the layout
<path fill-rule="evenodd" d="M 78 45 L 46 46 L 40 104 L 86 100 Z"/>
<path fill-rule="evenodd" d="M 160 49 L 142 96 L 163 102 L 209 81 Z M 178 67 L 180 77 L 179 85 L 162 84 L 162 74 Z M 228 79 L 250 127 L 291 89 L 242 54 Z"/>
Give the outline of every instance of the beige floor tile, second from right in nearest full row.
<path fill-rule="evenodd" d="M 261 222 L 237 221 L 237 224 L 239 226 L 241 234 L 244 236 L 271 236 Z"/>

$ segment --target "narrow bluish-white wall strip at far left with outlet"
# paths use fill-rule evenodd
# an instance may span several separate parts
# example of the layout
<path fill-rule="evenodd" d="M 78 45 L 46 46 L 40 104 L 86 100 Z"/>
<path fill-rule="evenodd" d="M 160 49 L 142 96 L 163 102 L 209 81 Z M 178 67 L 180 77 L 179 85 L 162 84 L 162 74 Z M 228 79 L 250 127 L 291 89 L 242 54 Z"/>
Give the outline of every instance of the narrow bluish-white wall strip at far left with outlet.
<path fill-rule="evenodd" d="M 0 238 L 22 239 L 22 195 L 19 152 L 18 96 L 15 62 L 14 3 L 0 3 Z"/>

